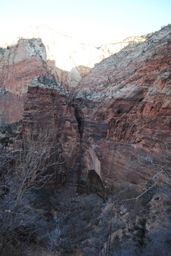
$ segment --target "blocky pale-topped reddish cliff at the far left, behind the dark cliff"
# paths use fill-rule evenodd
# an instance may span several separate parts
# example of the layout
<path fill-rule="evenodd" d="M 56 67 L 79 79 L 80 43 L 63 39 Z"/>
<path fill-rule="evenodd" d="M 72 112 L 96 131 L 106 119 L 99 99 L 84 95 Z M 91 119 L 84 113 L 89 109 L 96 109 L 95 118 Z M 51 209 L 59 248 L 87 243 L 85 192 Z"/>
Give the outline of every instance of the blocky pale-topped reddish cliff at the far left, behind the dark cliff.
<path fill-rule="evenodd" d="M 0 122 L 22 118 L 28 85 L 47 72 L 46 50 L 41 39 L 20 39 L 0 52 Z"/>

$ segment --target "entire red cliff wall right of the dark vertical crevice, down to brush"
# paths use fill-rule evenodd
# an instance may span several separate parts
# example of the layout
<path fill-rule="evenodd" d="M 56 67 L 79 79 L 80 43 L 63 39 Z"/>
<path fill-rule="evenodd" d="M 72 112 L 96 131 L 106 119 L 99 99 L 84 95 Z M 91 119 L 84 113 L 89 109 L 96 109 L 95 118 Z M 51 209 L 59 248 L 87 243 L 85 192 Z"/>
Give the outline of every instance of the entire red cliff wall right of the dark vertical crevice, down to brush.
<path fill-rule="evenodd" d="M 95 66 L 74 91 L 84 117 L 85 170 L 98 166 L 107 183 L 140 184 L 145 173 L 131 156 L 170 147 L 170 37 L 167 26 L 133 42 Z"/>

